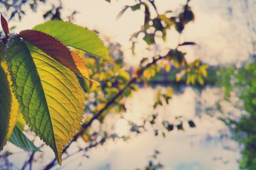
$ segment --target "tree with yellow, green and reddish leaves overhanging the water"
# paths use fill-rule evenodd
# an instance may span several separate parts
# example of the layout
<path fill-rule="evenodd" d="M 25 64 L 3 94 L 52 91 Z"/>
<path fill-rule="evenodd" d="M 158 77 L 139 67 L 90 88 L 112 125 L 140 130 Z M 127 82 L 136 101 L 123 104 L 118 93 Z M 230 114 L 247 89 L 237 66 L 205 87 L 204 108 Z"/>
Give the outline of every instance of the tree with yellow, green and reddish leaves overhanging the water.
<path fill-rule="evenodd" d="M 189 0 L 180 9 L 178 14 L 173 14 L 172 11 L 166 11 L 165 14 L 158 14 L 154 0 L 147 0 L 145 2 L 136 0 L 135 2 L 136 4 L 134 6 L 125 6 L 118 15 L 118 17 L 121 17 L 128 8 L 131 8 L 133 11 L 143 10 L 145 13 L 142 29 L 131 37 L 131 50 L 133 51 L 138 35 L 143 34 L 143 40 L 149 46 L 153 44 L 157 45 L 154 39 L 158 36 L 159 32 L 162 34 L 161 37 L 163 41 L 165 41 L 168 29 L 175 28 L 179 34 L 182 34 L 186 24 L 194 20 L 194 14 L 189 6 Z M 157 17 L 155 18 L 150 17 L 150 5 L 153 6 L 154 10 L 157 12 Z M 52 17 L 52 19 L 56 19 L 56 17 Z M 58 19 L 61 18 L 58 17 Z M 6 37 L 2 39 L 3 48 L 6 48 L 6 57 L 2 58 L 4 59 L 3 63 L 6 62 L 6 67 L 8 67 L 8 70 L 4 73 L 9 75 L 9 77 L 12 77 L 11 81 L 6 77 L 8 80 L 6 80 L 6 84 L 7 87 L 11 88 L 12 86 L 10 84 L 12 83 L 14 88 L 9 90 L 9 96 L 11 96 L 10 102 L 12 102 L 12 105 L 15 105 L 14 102 L 20 104 L 19 114 L 23 115 L 31 130 L 40 136 L 41 139 L 54 150 L 56 159 L 52 160 L 47 167 L 45 167 L 46 169 L 53 167 L 55 161 L 58 161 L 58 163 L 61 164 L 62 150 L 63 152 L 67 150 L 70 146 L 68 143 L 72 138 L 71 142 L 74 142 L 81 136 L 85 142 L 90 143 L 89 147 L 81 148 L 82 151 L 94 147 L 97 144 L 103 144 L 108 138 L 117 137 L 115 134 L 108 134 L 108 132 L 93 133 L 93 135 L 91 135 L 88 133 L 88 127 L 90 127 L 92 122 L 96 119 L 103 122 L 106 113 L 110 110 L 114 110 L 116 113 L 125 110 L 122 99 L 130 96 L 132 91 L 136 91 L 136 82 L 143 81 L 146 83 L 154 77 L 157 72 L 161 71 L 161 69 L 165 69 L 166 71 L 170 71 L 171 69 L 178 71 L 179 74 L 176 75 L 175 79 L 177 81 L 185 81 L 186 84 L 191 83 L 195 85 L 198 83 L 198 85 L 203 85 L 204 79 L 207 77 L 207 65 L 203 65 L 200 59 L 191 63 L 186 62 L 186 54 L 178 49 L 183 45 L 195 45 L 195 42 L 179 42 L 175 49 L 169 49 L 169 52 L 164 56 L 156 55 L 151 59 L 143 59 L 140 62 L 140 66 L 132 71 L 133 73 L 130 75 L 128 70 L 125 70 L 122 67 L 122 56 L 114 57 L 114 54 L 111 54 L 110 50 L 109 53 L 113 56 L 112 62 L 112 59 L 108 57 L 108 53 L 102 41 L 99 40 L 95 33 L 72 23 L 49 21 L 35 26 L 33 30 L 21 31 L 18 35 L 9 34 L 7 23 L 4 19 L 2 26 L 6 33 Z M 152 28 L 154 31 L 148 33 Z M 70 32 L 70 34 L 66 34 L 66 32 Z M 89 39 L 92 41 L 89 42 Z M 51 44 L 50 46 L 49 42 Z M 76 49 L 70 51 L 67 46 L 72 46 Z M 118 46 L 118 44 L 109 44 L 109 48 L 114 48 L 114 50 L 116 50 L 115 48 L 118 48 Z M 83 51 L 85 51 L 86 54 L 84 54 Z M 65 57 L 65 60 L 60 57 L 60 54 L 62 57 Z M 86 58 L 84 58 L 84 55 Z M 18 71 L 19 68 L 21 68 L 19 65 L 27 62 L 26 56 L 29 56 L 30 59 L 29 63 L 22 67 L 26 72 L 26 76 L 23 77 L 23 75 L 18 74 Z M 45 61 L 47 63 L 45 63 Z M 30 67 L 30 65 L 34 65 L 34 67 Z M 84 65 L 86 65 L 86 67 Z M 31 71 L 28 69 L 37 72 L 29 74 Z M 76 77 L 74 77 L 71 71 L 77 75 L 79 83 L 76 81 Z M 56 78 L 55 76 L 57 75 L 61 77 Z M 49 79 L 49 77 L 51 77 L 51 79 Z M 92 79 L 99 81 L 100 86 L 97 86 L 98 82 Z M 55 84 L 55 82 L 61 80 L 63 80 L 63 82 Z M 91 84 L 90 82 L 94 84 Z M 38 87 L 37 83 L 40 87 Z M 32 88 L 30 85 L 32 85 Z M 36 90 L 34 91 L 34 89 Z M 11 91 L 14 91 L 14 94 L 12 94 Z M 56 91 L 58 91 L 58 93 Z M 79 93 L 75 93 L 74 91 L 78 91 Z M 99 94 L 99 91 L 101 91 L 101 94 Z M 33 96 L 34 93 L 38 96 L 40 93 L 43 94 L 45 99 L 41 99 L 38 102 L 38 97 Z M 80 128 L 79 125 L 84 109 L 83 101 L 85 98 L 87 98 L 87 101 L 90 100 L 90 93 L 94 94 L 94 101 L 87 102 L 85 112 L 93 113 L 93 116 L 85 120 Z M 168 104 L 171 95 L 171 88 L 166 88 L 165 92 L 159 91 L 154 108 L 157 107 L 157 105 L 163 105 L 164 103 Z M 17 96 L 17 101 L 15 101 L 14 96 Z M 71 98 L 67 96 L 70 96 Z M 61 97 L 67 97 L 67 99 L 62 101 Z M 33 101 L 32 99 L 36 101 L 35 103 L 32 103 L 33 105 L 30 105 L 30 100 Z M 40 103 L 43 103 L 44 108 L 48 108 L 48 117 L 44 116 L 44 110 L 41 111 Z M 70 105 L 72 105 L 72 107 Z M 95 107 L 91 109 L 90 105 Z M 60 110 L 55 111 L 57 108 Z M 9 110 L 12 109 L 9 108 Z M 19 115 L 17 111 L 13 112 L 15 113 L 15 117 Z M 40 114 L 37 114 L 37 112 Z M 61 118 L 61 115 L 58 114 L 58 112 L 61 112 L 61 115 L 65 114 L 65 119 Z M 37 122 L 38 118 L 35 115 L 40 116 L 41 120 L 39 119 L 39 122 Z M 152 115 L 148 119 L 152 125 L 154 124 L 156 116 L 157 115 Z M 51 125 L 47 121 L 49 118 L 51 121 L 54 119 L 52 122 L 55 122 L 55 124 L 52 123 L 52 137 L 47 136 L 49 131 L 45 131 L 45 129 L 49 130 L 49 126 Z M 10 116 L 9 120 L 11 119 Z M 15 126 L 15 119 L 12 120 L 14 120 L 12 127 L 10 126 L 8 129 L 12 129 Z M 75 122 L 69 122 L 73 120 L 75 120 Z M 62 122 L 58 123 L 59 121 Z M 24 126 L 24 121 L 22 118 L 18 119 L 18 124 L 19 125 L 17 125 L 17 128 L 15 127 L 14 130 L 18 131 L 20 136 L 23 136 L 22 126 Z M 20 125 L 22 126 L 20 127 Z M 189 120 L 189 125 L 195 127 L 195 124 L 191 120 Z M 55 129 L 53 129 L 53 126 Z M 172 123 L 166 121 L 163 122 L 163 126 L 169 131 L 174 128 Z M 70 127 L 70 129 L 66 129 L 67 127 Z M 7 126 L 4 126 L 3 128 L 7 128 Z M 177 125 L 177 128 L 182 130 L 182 123 Z M 78 133 L 76 133 L 76 130 L 79 130 Z M 138 126 L 135 124 L 132 124 L 131 131 L 132 130 L 140 133 Z M 55 132 L 58 132 L 58 134 Z M 13 133 L 13 135 L 14 134 L 15 133 Z M 164 133 L 162 134 L 165 136 Z M 158 135 L 157 129 L 155 135 Z M 3 144 L 9 139 L 9 135 L 5 136 Z M 96 136 L 102 136 L 102 140 L 96 142 Z M 13 143 L 16 142 L 17 146 L 24 145 L 23 143 L 25 142 L 17 142 L 17 140 L 15 141 L 16 138 L 11 136 L 10 141 Z M 23 138 L 25 137 L 23 136 Z M 25 140 L 26 143 L 29 143 L 29 147 L 21 146 L 23 149 L 30 151 L 39 150 L 33 146 L 32 142 L 28 141 L 26 138 Z M 52 140 L 55 140 L 55 142 L 52 142 Z M 34 153 L 31 154 L 31 157 L 26 164 L 31 163 L 33 156 Z M 26 167 L 26 164 L 24 164 L 24 167 Z"/>

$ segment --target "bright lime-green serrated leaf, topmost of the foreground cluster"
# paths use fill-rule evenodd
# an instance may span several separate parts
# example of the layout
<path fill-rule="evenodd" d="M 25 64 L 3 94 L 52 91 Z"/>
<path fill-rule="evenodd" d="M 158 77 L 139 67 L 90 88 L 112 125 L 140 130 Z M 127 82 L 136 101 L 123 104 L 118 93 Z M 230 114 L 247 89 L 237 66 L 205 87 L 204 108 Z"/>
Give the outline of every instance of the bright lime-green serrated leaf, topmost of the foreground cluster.
<path fill-rule="evenodd" d="M 54 20 L 35 26 L 33 30 L 44 32 L 64 42 L 64 44 L 68 46 L 113 62 L 108 56 L 108 49 L 105 47 L 102 40 L 100 40 L 99 36 L 93 31 L 87 30 L 81 26 Z"/>

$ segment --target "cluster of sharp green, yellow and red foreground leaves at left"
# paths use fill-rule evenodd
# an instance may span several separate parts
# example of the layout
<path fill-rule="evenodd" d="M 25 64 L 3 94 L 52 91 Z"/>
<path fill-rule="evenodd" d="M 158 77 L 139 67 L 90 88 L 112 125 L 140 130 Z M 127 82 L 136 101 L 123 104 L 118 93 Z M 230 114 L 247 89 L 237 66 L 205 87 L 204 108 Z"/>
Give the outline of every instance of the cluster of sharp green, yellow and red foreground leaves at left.
<path fill-rule="evenodd" d="M 51 26 L 52 22 L 44 23 L 44 28 Z M 65 28 L 71 27 L 70 32 L 79 29 L 80 33 L 74 32 L 72 35 L 76 37 L 76 34 L 83 34 L 83 38 L 97 44 L 95 48 L 81 39 L 76 43 L 77 39 L 64 37 L 65 34 L 55 35 L 63 41 L 33 30 L 9 34 L 8 24 L 2 15 L 1 23 L 6 34 L 6 37 L 2 38 L 6 56 L 1 57 L 0 99 L 3 100 L 1 117 L 4 117 L 4 123 L 1 124 L 0 130 L 0 148 L 2 150 L 10 138 L 17 121 L 19 105 L 19 111 L 26 123 L 52 148 L 58 163 L 61 164 L 62 150 L 79 130 L 84 111 L 84 92 L 73 72 L 90 80 L 83 60 L 66 45 L 90 51 L 90 54 L 105 59 L 108 59 L 107 50 L 95 33 L 72 23 L 60 21 L 54 24 L 58 28 L 63 26 L 62 24 Z M 98 85 L 97 82 L 90 81 Z M 10 141 L 24 150 L 38 150 L 18 127 L 14 128 Z"/>

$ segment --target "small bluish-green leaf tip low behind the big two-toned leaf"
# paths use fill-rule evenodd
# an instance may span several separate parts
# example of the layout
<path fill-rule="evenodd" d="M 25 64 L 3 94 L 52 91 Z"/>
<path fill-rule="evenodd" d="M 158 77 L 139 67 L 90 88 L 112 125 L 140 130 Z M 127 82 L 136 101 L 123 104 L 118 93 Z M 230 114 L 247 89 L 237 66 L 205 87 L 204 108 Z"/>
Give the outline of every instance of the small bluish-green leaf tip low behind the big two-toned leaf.
<path fill-rule="evenodd" d="M 40 151 L 38 147 L 36 147 L 33 142 L 31 142 L 23 133 L 22 131 L 15 126 L 12 135 L 9 139 L 9 142 L 14 144 L 15 146 L 29 152 L 36 152 Z"/>

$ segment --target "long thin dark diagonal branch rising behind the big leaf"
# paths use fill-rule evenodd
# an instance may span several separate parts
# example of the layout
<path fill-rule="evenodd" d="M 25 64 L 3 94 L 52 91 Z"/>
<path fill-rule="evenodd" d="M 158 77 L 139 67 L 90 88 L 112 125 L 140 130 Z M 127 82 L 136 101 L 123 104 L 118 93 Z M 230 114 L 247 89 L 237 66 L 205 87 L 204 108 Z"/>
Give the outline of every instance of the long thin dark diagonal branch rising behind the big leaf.
<path fill-rule="evenodd" d="M 79 132 L 74 136 L 74 139 L 67 145 L 67 147 L 64 148 L 62 153 L 65 153 L 67 148 L 70 147 L 70 144 L 74 141 L 77 140 L 77 138 L 84 133 L 84 130 L 87 129 L 87 127 L 89 127 L 93 120 L 98 119 L 99 116 L 102 115 L 102 113 L 108 109 L 113 103 L 116 102 L 116 99 L 121 96 L 123 94 L 123 92 L 125 91 L 126 88 L 128 88 L 131 84 L 134 84 L 136 82 L 136 80 L 143 74 L 143 71 L 145 71 L 147 68 L 149 68 L 151 65 L 156 64 L 156 62 L 160 59 L 165 58 L 166 56 L 160 56 L 157 59 L 153 59 L 152 62 L 148 63 L 147 65 L 145 65 L 143 68 L 141 68 L 140 70 L 137 71 L 137 77 L 132 78 L 126 85 L 124 88 L 122 88 L 111 100 L 108 101 L 108 103 L 96 114 L 94 115 L 89 122 L 87 122 L 87 124 L 82 125 L 81 130 L 79 130 Z M 52 168 L 55 165 L 55 161 L 56 158 L 52 159 L 52 161 L 44 168 L 44 170 L 49 170 L 50 168 Z"/>

